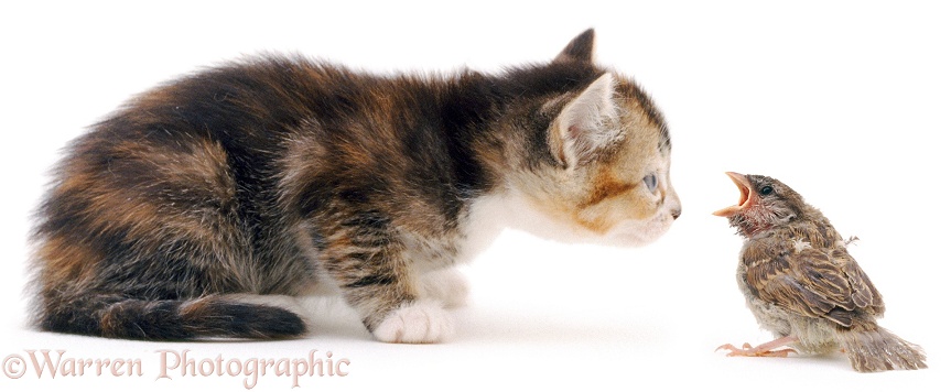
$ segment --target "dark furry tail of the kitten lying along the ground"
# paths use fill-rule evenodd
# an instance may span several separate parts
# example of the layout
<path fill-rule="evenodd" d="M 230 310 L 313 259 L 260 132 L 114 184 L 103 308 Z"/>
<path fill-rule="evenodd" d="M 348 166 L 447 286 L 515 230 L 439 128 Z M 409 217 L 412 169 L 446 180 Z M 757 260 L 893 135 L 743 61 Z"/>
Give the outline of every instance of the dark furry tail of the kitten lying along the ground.
<path fill-rule="evenodd" d="M 306 331 L 304 322 L 291 311 L 223 295 L 151 301 L 94 294 L 55 303 L 47 301 L 46 305 L 39 317 L 42 329 L 109 338 L 279 339 Z"/>

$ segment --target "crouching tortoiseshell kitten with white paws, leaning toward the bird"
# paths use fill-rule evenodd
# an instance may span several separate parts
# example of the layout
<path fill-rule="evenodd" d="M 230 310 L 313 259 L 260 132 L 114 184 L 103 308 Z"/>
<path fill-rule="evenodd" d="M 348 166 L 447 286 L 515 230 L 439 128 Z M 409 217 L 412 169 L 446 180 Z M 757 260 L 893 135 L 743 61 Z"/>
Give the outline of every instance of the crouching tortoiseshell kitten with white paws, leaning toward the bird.
<path fill-rule="evenodd" d="M 501 75 L 261 57 L 132 99 L 39 209 L 36 323 L 127 339 L 285 338 L 331 287 L 381 341 L 452 334 L 449 270 L 499 220 L 641 244 L 680 215 L 664 121 L 594 32 Z M 543 230 L 542 230 L 543 229 Z"/>

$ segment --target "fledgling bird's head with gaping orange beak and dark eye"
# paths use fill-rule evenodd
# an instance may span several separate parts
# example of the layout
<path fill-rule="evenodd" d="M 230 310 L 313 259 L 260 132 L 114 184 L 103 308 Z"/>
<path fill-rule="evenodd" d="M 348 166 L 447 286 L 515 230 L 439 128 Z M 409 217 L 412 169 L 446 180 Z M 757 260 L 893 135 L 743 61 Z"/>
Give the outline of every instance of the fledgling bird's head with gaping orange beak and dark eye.
<path fill-rule="evenodd" d="M 747 238 L 787 225 L 809 208 L 798 193 L 778 179 L 733 172 L 726 175 L 739 188 L 739 203 L 713 215 L 730 219 L 730 226 Z"/>

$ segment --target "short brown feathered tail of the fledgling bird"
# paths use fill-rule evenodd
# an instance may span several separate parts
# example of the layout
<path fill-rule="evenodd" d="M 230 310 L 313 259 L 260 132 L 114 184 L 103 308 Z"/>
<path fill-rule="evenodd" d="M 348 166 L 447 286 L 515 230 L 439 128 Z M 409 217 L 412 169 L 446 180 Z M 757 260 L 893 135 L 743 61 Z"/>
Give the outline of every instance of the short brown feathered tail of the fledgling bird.
<path fill-rule="evenodd" d="M 899 338 L 872 324 L 840 330 L 839 342 L 845 349 L 852 368 L 861 372 L 914 370 L 928 368 L 925 351 L 918 345 Z"/>

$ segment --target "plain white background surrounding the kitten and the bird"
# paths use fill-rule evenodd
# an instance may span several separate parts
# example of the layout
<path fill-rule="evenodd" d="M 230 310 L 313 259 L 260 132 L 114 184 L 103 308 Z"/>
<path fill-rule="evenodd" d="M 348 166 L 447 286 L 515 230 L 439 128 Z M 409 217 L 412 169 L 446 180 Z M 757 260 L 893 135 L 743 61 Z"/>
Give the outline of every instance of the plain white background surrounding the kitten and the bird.
<path fill-rule="evenodd" d="M 91 1 L 0 6 L 3 168 L 0 358 L 65 350 L 139 359 L 142 377 L 20 379 L 0 389 L 122 391 L 216 386 L 242 378 L 160 374 L 156 350 L 195 359 L 350 361 L 316 390 L 947 390 L 951 12 L 940 2 L 472 1 L 317 6 L 269 1 Z M 547 242 L 506 232 L 465 269 L 473 294 L 446 344 L 372 341 L 339 303 L 311 336 L 263 342 L 140 342 L 25 326 L 26 235 L 60 150 L 131 95 L 245 54 L 299 52 L 363 69 L 498 72 L 545 62 L 597 31 L 597 58 L 633 76 L 664 111 L 684 213 L 646 248 Z M 860 374 L 843 356 L 726 358 L 770 338 L 736 288 L 739 237 L 711 211 L 736 203 L 725 171 L 785 181 L 820 207 L 884 294 L 882 324 L 931 369 Z M 12 358 L 12 357 L 11 357 Z M 13 366 L 13 364 L 9 364 Z M 290 390 L 261 377 L 256 390 Z M 217 390 L 217 389 L 216 389 Z"/>

